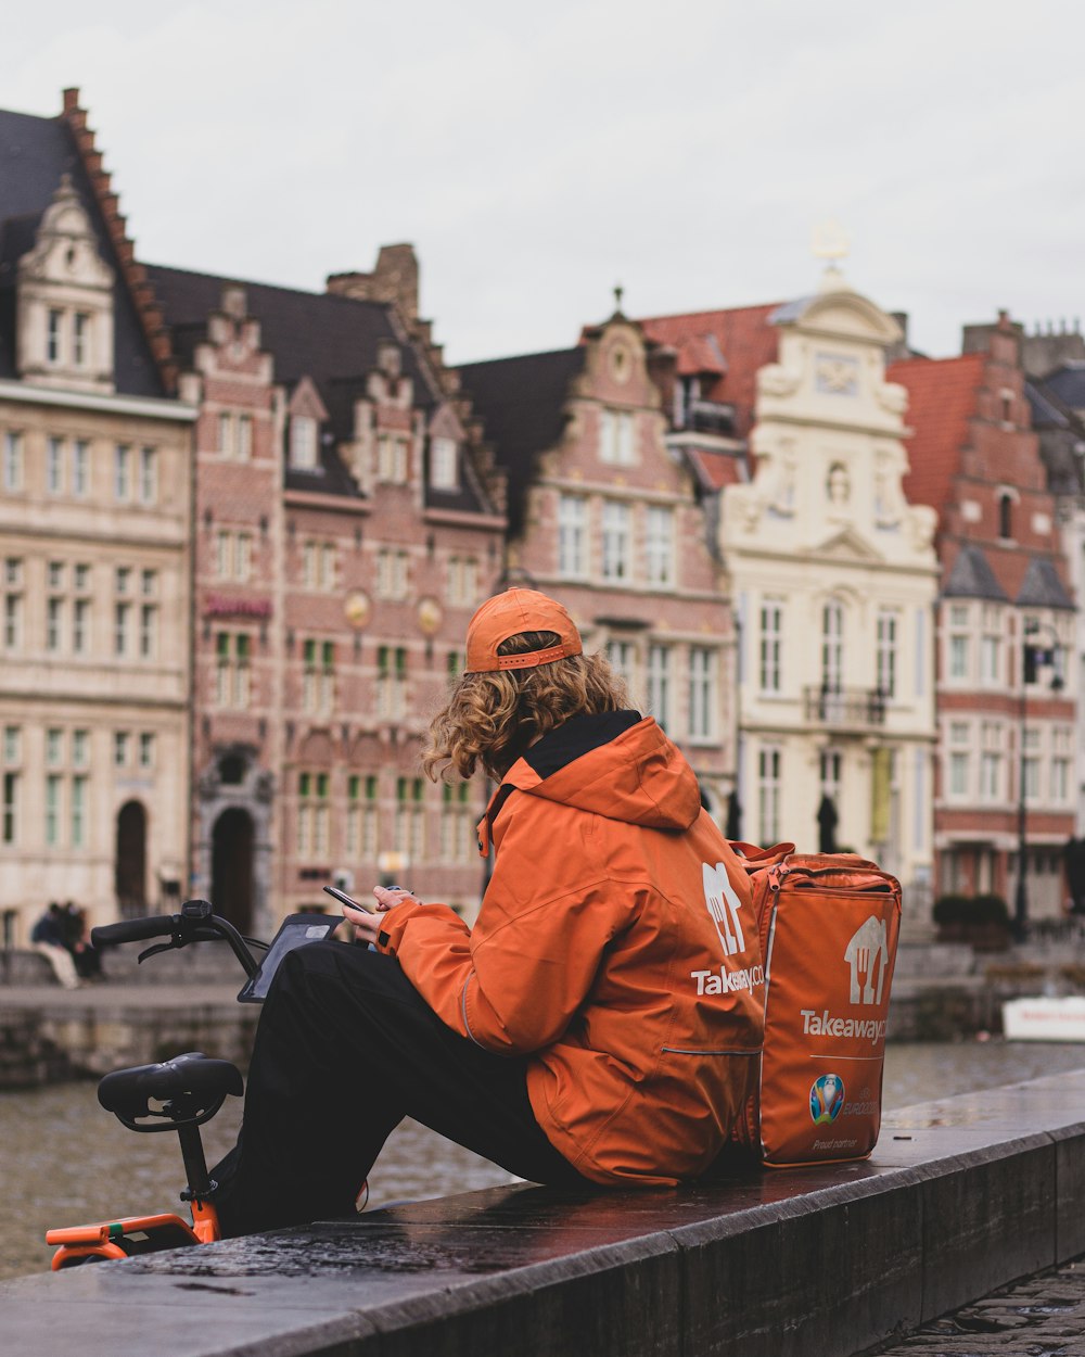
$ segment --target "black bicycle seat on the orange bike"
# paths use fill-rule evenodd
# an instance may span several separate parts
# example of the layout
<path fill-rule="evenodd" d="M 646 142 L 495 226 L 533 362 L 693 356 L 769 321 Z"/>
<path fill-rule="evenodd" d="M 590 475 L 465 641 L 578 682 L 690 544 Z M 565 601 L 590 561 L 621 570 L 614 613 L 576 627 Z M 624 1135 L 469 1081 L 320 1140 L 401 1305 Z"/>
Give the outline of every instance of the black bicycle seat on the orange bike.
<path fill-rule="evenodd" d="M 98 1101 L 133 1130 L 171 1130 L 213 1117 L 228 1094 L 240 1095 L 244 1082 L 236 1065 L 199 1050 L 186 1052 L 157 1065 L 114 1069 L 98 1086 Z M 151 1102 L 161 1107 L 151 1107 Z M 138 1125 L 138 1117 L 157 1117 L 167 1125 Z"/>

